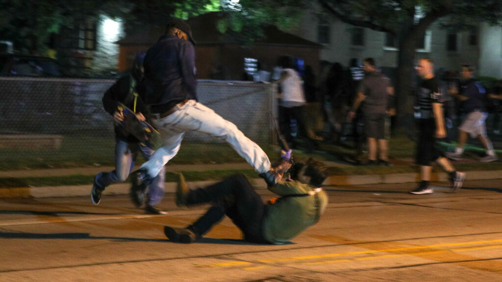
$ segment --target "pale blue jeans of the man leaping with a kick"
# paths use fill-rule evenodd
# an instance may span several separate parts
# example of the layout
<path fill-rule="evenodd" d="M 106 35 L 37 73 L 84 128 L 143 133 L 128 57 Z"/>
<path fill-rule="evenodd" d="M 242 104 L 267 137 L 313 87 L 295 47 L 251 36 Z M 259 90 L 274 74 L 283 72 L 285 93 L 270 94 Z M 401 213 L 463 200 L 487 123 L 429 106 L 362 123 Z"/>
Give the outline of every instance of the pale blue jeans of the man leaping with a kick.
<path fill-rule="evenodd" d="M 164 118 L 152 119 L 152 125 L 161 133 L 163 146 L 141 166 L 141 169 L 146 170 L 147 183 L 178 154 L 187 131 L 198 131 L 225 140 L 258 173 L 266 173 L 271 168 L 269 158 L 260 146 L 247 138 L 235 124 L 195 100 L 189 100 Z"/>

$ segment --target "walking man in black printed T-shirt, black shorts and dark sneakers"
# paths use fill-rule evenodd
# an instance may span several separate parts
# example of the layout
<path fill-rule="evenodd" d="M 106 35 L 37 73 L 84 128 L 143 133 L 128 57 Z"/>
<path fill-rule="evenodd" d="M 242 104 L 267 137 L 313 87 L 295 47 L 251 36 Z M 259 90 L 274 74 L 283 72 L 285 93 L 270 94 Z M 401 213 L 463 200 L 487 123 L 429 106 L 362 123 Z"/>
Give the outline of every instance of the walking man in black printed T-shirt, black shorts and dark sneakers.
<path fill-rule="evenodd" d="M 419 107 L 419 133 L 416 162 L 420 166 L 421 182 L 412 194 L 431 194 L 434 190 L 429 187 L 432 162 L 438 163 L 448 173 L 451 182 L 451 193 L 462 188 L 465 173 L 455 171 L 448 159 L 436 148 L 436 140 L 446 137 L 443 118 L 443 107 L 439 100 L 438 83 L 434 77 L 434 65 L 430 59 L 420 59 L 417 73 L 422 77 L 420 89 L 417 91 L 417 106 Z"/>

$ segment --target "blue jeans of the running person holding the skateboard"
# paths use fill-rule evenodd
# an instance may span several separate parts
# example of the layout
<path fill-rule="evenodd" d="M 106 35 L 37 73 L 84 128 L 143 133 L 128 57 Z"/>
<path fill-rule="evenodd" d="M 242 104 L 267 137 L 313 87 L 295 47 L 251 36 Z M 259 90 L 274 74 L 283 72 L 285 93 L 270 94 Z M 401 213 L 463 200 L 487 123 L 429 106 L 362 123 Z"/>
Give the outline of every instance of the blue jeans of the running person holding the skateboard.
<path fill-rule="evenodd" d="M 126 140 L 115 139 L 115 170 L 109 173 L 100 173 L 96 176 L 96 183 L 103 189 L 114 183 L 126 181 L 134 168 L 134 163 L 141 151 L 145 160 L 150 160 L 154 151 L 141 143 L 128 143 Z M 155 177 L 148 186 L 149 205 L 156 206 L 164 195 L 165 168 Z"/>

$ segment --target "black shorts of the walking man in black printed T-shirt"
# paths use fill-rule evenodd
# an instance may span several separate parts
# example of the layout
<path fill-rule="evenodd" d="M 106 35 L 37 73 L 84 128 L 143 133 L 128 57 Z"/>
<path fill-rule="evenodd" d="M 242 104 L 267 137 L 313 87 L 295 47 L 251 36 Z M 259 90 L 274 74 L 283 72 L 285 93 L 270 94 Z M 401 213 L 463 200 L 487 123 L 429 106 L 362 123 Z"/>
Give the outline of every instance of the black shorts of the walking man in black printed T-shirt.
<path fill-rule="evenodd" d="M 436 147 L 436 121 L 432 118 L 421 118 L 418 126 L 416 163 L 420 166 L 431 166 L 432 162 L 443 156 Z"/>

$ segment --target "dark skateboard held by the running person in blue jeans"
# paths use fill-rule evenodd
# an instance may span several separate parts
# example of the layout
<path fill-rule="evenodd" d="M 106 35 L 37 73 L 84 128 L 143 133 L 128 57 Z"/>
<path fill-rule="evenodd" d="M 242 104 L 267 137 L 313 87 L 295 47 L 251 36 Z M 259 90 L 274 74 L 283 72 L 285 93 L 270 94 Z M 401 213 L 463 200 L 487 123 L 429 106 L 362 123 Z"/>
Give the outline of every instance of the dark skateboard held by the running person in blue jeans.
<path fill-rule="evenodd" d="M 124 117 L 119 122 L 124 131 L 138 138 L 143 145 L 150 149 L 157 150 L 162 145 L 161 135 L 152 125 L 139 120 L 134 111 L 123 104 L 118 105 L 118 110 L 122 112 Z"/>

